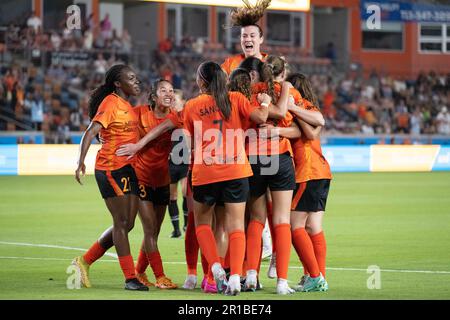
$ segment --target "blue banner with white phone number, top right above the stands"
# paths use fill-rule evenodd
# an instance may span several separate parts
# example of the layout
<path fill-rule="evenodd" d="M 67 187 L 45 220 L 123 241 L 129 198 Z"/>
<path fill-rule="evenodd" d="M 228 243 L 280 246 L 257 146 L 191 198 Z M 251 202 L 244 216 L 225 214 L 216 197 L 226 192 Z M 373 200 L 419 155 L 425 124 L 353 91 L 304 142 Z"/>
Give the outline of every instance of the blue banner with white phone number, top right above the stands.
<path fill-rule="evenodd" d="M 375 13 L 369 6 L 381 10 L 381 21 L 450 23 L 450 6 L 424 5 L 390 0 L 361 0 L 361 20 Z"/>

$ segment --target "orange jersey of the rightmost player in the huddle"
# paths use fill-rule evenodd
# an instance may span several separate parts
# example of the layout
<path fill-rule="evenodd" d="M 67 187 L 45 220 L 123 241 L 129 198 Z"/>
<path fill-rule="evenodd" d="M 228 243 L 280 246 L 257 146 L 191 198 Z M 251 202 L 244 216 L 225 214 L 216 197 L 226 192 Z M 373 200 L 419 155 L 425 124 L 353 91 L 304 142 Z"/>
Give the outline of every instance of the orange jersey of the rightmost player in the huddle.
<path fill-rule="evenodd" d="M 320 112 L 306 99 L 303 99 L 303 108 Z M 320 139 L 309 140 L 302 135 L 299 139 L 292 140 L 292 148 L 296 183 L 332 178 L 330 165 L 322 154 Z"/>

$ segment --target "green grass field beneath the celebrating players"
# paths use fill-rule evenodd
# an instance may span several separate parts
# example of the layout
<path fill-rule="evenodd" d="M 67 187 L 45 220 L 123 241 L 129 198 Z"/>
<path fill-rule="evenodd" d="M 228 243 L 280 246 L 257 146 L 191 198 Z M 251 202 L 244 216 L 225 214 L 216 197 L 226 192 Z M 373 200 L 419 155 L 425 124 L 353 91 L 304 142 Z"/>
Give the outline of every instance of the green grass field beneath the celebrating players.
<path fill-rule="evenodd" d="M 109 256 L 91 267 L 93 288 L 69 290 L 66 269 L 81 253 L 71 248 L 88 248 L 111 224 L 94 178 L 80 187 L 71 176 L 2 176 L 0 195 L 0 299 L 450 299 L 450 173 L 335 174 L 324 226 L 330 290 L 289 297 L 274 293 L 267 262 L 264 290 L 238 297 L 200 289 L 129 292 Z M 166 217 L 159 247 L 166 274 L 181 286 L 184 241 L 170 232 Z M 137 221 L 130 234 L 135 258 L 141 240 Z M 367 288 L 371 265 L 382 270 L 381 289 Z M 300 271 L 292 250 L 292 285 Z"/>

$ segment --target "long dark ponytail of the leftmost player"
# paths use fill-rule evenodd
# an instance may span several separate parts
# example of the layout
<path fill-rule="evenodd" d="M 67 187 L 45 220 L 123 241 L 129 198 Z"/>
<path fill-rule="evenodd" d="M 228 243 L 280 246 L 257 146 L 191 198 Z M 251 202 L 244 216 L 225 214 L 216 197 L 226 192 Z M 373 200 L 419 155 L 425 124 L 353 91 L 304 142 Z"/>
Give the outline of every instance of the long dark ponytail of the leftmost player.
<path fill-rule="evenodd" d="M 103 99 L 116 90 L 114 82 L 120 81 L 120 75 L 126 69 L 129 69 L 127 65 L 118 64 L 112 66 L 106 72 L 105 83 L 95 89 L 89 98 L 88 112 L 90 120 L 92 120 L 97 114 L 98 107 L 102 103 Z"/>

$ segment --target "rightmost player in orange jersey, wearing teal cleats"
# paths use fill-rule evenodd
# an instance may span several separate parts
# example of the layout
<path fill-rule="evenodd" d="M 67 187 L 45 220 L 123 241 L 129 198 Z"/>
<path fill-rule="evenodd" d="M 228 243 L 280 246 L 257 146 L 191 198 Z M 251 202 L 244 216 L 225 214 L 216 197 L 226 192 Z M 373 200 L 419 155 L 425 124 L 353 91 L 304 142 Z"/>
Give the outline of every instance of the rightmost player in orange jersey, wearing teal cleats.
<path fill-rule="evenodd" d="M 317 122 L 317 116 L 321 116 L 321 113 L 309 80 L 302 74 L 292 74 L 288 81 L 304 98 L 301 107 L 293 105 L 290 108 L 303 133 L 293 143 L 297 185 L 292 200 L 292 242 L 305 269 L 305 275 L 296 290 L 326 291 L 326 242 L 322 220 L 332 176 L 320 146 L 319 135 L 324 120 L 321 117 L 321 121 Z M 316 119 L 302 116 L 304 110 L 315 111 Z"/>

